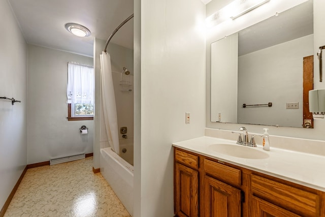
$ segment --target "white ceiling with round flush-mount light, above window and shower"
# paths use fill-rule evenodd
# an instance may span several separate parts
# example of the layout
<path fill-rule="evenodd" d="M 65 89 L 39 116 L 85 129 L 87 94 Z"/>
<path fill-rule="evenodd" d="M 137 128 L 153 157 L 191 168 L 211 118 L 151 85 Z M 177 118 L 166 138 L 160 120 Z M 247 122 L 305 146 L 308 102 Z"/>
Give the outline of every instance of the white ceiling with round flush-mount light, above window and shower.
<path fill-rule="evenodd" d="M 133 14 L 133 0 L 8 0 L 28 44 L 93 56 L 94 38 L 107 40 L 114 29 Z M 80 38 L 64 24 L 86 26 L 91 35 Z M 121 27 L 110 43 L 133 49 L 133 19 Z M 103 48 L 104 49 L 104 48 Z"/>

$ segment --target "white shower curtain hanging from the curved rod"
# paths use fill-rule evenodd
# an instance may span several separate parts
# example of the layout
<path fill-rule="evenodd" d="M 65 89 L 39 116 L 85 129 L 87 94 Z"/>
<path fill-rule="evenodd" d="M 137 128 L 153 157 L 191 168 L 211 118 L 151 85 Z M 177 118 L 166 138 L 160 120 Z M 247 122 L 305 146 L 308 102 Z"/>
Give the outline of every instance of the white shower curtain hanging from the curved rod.
<path fill-rule="evenodd" d="M 101 56 L 101 77 L 102 77 L 102 103 L 101 107 L 104 118 L 101 117 L 102 121 L 105 122 L 107 139 L 111 148 L 119 154 L 119 141 L 118 141 L 118 127 L 117 127 L 117 113 L 116 113 L 116 102 L 113 86 L 112 67 L 111 67 L 111 56 L 109 53 L 102 52 Z M 101 141 L 105 142 L 105 141 Z"/>

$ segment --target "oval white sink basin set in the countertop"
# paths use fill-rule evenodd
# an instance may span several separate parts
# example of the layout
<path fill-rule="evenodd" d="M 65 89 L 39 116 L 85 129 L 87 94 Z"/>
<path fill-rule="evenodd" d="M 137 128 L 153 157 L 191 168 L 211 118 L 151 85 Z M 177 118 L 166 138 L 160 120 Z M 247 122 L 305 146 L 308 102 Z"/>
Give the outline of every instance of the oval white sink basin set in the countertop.
<path fill-rule="evenodd" d="M 269 154 L 262 150 L 243 145 L 213 144 L 209 146 L 209 149 L 218 153 L 226 154 L 228 156 L 237 158 L 266 159 L 269 157 Z"/>

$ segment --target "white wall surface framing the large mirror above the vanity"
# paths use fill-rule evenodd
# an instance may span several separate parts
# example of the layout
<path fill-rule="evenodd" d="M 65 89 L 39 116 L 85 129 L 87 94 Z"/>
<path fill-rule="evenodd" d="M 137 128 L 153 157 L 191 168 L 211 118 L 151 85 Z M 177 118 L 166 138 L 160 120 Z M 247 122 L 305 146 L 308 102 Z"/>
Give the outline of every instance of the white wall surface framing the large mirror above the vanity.
<path fill-rule="evenodd" d="M 220 0 L 213 0 L 220 1 Z M 222 2 L 226 2 L 228 0 L 222 0 Z M 231 35 L 232 33 L 238 32 L 239 30 L 246 28 L 254 23 L 262 21 L 276 12 L 281 12 L 292 8 L 303 1 L 299 0 L 273 0 L 269 3 L 265 4 L 264 7 L 255 9 L 249 12 L 249 16 L 247 14 L 237 18 L 231 25 L 229 23 L 222 23 L 217 27 L 214 27 L 207 32 L 207 42 L 206 42 L 206 72 L 207 72 L 207 83 L 206 83 L 206 99 L 207 99 L 207 116 L 206 116 L 206 126 L 208 128 L 216 128 L 216 129 L 225 129 L 225 130 L 238 130 L 242 124 L 234 124 L 234 123 L 213 123 L 210 122 L 210 70 L 211 70 L 211 49 L 210 44 L 225 35 Z M 318 47 L 325 45 L 325 29 L 323 28 L 323 20 L 325 20 L 325 13 L 322 12 L 322 9 L 325 8 L 325 2 L 322 0 L 314 0 L 314 88 L 323 88 L 325 89 L 325 82 L 320 83 L 318 81 L 318 59 L 316 56 L 316 52 L 318 51 Z M 207 7 L 210 3 L 207 5 Z M 212 9 L 209 9 L 212 10 Z M 217 11 L 218 8 L 214 8 L 214 11 Z M 208 9 L 207 9 L 208 11 Z M 324 66 L 323 66 L 324 67 Z M 323 69 L 324 70 L 324 69 Z M 246 125 L 247 129 L 251 133 L 263 133 L 264 126 L 260 125 Z M 269 133 L 271 135 L 278 136 L 289 136 L 289 137 L 297 137 L 297 138 L 306 138 L 306 139 L 319 139 L 325 140 L 325 134 L 323 133 L 323 129 L 325 129 L 325 120 L 314 120 L 314 129 L 299 129 L 299 128 L 288 128 L 288 127 L 271 127 Z"/>

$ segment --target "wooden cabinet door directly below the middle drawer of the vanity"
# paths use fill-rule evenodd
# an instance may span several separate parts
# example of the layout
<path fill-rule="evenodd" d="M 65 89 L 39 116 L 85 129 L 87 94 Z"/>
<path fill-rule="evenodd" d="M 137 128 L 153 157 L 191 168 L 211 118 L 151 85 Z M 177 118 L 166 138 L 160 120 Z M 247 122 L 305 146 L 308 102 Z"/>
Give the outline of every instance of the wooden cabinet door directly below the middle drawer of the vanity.
<path fill-rule="evenodd" d="M 204 180 L 204 216 L 241 216 L 241 191 L 209 176 Z"/>

